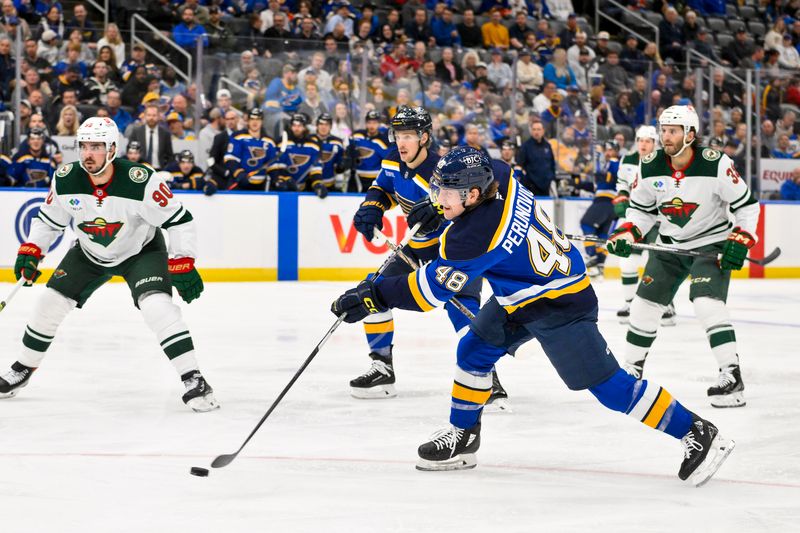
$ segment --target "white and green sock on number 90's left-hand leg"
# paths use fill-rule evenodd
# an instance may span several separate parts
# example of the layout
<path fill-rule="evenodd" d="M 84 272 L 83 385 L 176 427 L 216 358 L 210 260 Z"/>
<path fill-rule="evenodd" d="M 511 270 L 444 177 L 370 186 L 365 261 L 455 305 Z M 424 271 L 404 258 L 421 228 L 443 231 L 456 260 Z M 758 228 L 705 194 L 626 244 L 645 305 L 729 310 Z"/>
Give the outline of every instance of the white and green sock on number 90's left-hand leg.
<path fill-rule="evenodd" d="M 19 356 L 20 363 L 31 368 L 37 368 L 41 364 L 44 353 L 53 342 L 58 326 L 75 305 L 75 300 L 70 300 L 54 289 L 45 289 L 36 304 L 33 318 L 25 327 L 22 353 Z"/>

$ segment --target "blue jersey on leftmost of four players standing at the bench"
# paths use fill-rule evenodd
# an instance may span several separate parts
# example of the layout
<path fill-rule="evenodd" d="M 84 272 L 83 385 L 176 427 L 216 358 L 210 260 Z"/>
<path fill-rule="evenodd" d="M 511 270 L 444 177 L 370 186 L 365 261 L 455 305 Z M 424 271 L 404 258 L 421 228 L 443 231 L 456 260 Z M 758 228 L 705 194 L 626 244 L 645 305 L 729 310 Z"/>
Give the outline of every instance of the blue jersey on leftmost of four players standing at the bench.
<path fill-rule="evenodd" d="M 269 166 L 278 154 L 275 141 L 264 135 L 253 137 L 245 130 L 231 135 L 225 152 L 225 168 L 230 171 L 234 183 L 231 188 L 263 188 L 266 185 Z"/>

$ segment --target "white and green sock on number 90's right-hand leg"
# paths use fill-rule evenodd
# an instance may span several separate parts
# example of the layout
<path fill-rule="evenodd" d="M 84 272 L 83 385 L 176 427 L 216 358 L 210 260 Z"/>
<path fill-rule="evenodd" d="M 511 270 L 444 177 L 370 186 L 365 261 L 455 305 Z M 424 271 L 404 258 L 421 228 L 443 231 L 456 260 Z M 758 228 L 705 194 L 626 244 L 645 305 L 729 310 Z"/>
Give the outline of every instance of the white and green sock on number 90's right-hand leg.
<path fill-rule="evenodd" d="M 198 370 L 192 336 L 172 297 L 163 292 L 146 293 L 139 298 L 139 309 L 178 375 Z"/>

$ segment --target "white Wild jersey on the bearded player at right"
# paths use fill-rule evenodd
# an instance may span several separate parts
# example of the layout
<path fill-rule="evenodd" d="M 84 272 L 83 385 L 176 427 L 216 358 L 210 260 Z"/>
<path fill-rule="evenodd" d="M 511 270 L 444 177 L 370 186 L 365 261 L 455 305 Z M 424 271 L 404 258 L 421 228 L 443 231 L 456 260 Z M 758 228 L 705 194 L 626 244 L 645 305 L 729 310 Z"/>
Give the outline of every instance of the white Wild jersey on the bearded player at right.
<path fill-rule="evenodd" d="M 663 149 L 642 158 L 627 220 L 643 235 L 660 222 L 661 242 L 683 249 L 724 241 L 736 226 L 755 236 L 759 205 L 731 158 L 704 147 L 693 154 L 684 169 Z"/>

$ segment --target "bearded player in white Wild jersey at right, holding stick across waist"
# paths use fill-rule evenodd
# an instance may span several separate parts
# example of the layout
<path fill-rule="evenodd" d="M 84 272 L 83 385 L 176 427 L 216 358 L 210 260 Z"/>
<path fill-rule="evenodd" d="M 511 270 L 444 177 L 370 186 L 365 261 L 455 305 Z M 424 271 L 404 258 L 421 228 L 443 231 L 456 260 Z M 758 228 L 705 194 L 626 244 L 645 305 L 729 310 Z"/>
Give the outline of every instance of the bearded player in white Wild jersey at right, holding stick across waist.
<path fill-rule="evenodd" d="M 692 106 L 667 108 L 659 127 L 664 148 L 642 158 L 631 186 L 628 222 L 611 235 L 608 251 L 629 256 L 631 243 L 660 222 L 659 242 L 721 255 L 715 261 L 650 254 L 631 304 L 625 369 L 641 377 L 659 317 L 689 275 L 689 298 L 720 369 L 717 384 L 708 389 L 711 405 L 742 407 L 744 382 L 725 301 L 731 270 L 744 266 L 756 242 L 758 202 L 727 155 L 699 146 L 699 120 Z"/>

